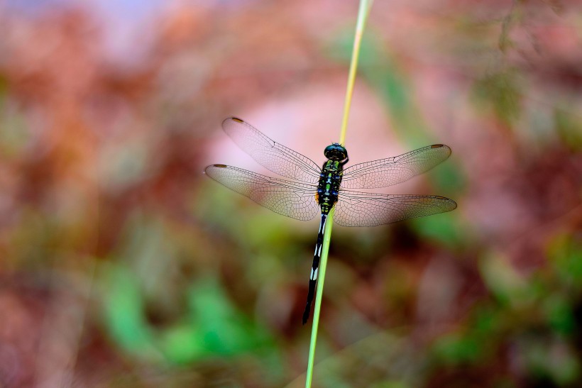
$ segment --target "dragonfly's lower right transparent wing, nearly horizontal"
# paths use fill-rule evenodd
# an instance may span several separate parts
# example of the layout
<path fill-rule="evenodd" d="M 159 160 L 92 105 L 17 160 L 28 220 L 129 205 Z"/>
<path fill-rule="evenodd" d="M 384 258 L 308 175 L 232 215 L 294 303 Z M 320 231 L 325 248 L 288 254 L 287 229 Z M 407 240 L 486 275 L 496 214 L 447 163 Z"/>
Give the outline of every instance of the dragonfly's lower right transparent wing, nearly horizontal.
<path fill-rule="evenodd" d="M 334 221 L 342 226 L 376 226 L 407 218 L 431 216 L 456 208 L 436 195 L 390 195 L 341 190 Z"/>

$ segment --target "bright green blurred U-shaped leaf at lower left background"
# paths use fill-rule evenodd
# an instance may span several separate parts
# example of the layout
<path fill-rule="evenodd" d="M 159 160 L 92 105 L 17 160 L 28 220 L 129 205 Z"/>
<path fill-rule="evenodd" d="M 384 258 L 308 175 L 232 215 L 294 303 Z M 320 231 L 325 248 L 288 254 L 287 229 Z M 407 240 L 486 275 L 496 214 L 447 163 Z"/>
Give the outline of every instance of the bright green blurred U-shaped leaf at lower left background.
<path fill-rule="evenodd" d="M 165 356 L 177 364 L 251 351 L 278 359 L 266 328 L 237 311 L 212 277 L 190 289 L 190 311 L 174 325 L 162 328 L 151 326 L 146 319 L 143 285 L 135 272 L 121 265 L 111 267 L 103 288 L 106 325 L 129 353 L 149 360 Z"/>

